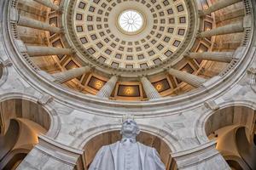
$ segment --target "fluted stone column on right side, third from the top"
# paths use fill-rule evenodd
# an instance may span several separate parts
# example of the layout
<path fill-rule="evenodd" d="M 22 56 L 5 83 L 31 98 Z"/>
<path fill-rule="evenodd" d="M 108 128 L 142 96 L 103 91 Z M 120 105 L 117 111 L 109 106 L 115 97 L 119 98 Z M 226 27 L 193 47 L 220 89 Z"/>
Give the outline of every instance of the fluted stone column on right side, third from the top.
<path fill-rule="evenodd" d="M 189 59 L 205 59 L 211 61 L 230 63 L 233 59 L 234 52 L 204 52 L 204 53 L 189 53 L 185 57 Z"/>

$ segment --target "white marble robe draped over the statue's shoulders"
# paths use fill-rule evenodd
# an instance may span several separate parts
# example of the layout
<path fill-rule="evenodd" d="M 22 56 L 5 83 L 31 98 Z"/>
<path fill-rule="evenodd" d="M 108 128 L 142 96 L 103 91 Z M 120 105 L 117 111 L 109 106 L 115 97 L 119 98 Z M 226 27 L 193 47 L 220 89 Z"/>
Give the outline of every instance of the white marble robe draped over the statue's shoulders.
<path fill-rule="evenodd" d="M 132 153 L 131 158 L 139 160 L 132 162 L 131 165 L 125 165 L 124 156 L 120 156 L 123 154 L 120 153 L 121 150 L 123 151 L 123 148 L 121 148 L 123 145 L 118 141 L 114 144 L 103 146 L 97 152 L 89 170 L 166 170 L 165 165 L 160 161 L 158 152 L 154 148 L 138 142 L 134 144 L 137 144 L 137 151 Z M 139 165 L 135 165 L 135 163 Z"/>

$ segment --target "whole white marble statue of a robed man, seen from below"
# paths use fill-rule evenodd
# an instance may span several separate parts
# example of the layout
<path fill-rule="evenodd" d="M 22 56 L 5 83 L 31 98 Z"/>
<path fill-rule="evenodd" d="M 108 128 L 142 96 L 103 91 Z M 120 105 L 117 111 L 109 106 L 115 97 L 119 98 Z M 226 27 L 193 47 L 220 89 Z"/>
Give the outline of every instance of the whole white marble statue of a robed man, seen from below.
<path fill-rule="evenodd" d="M 89 170 L 166 170 L 154 148 L 137 142 L 140 129 L 131 116 L 123 121 L 120 133 L 120 141 L 97 152 Z"/>

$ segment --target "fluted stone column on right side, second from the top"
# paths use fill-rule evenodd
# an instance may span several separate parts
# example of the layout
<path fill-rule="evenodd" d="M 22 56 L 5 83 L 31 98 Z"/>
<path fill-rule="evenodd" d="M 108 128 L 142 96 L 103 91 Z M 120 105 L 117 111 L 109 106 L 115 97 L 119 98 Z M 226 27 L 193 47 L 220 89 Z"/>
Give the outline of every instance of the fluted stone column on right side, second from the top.
<path fill-rule="evenodd" d="M 227 26 L 220 26 L 218 28 L 214 28 L 209 31 L 203 31 L 199 34 L 199 37 L 212 37 L 217 35 L 224 35 L 236 32 L 242 32 L 243 28 L 243 21 L 237 22 L 235 24 L 230 24 Z"/>

